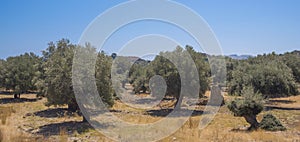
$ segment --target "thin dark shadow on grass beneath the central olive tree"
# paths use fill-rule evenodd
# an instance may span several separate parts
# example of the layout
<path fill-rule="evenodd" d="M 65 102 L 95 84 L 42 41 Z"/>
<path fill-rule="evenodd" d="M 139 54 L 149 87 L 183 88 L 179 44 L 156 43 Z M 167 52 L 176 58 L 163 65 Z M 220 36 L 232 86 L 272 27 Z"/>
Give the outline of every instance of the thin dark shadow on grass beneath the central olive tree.
<path fill-rule="evenodd" d="M 149 110 L 146 113 L 148 115 L 154 116 L 154 117 L 166 117 L 169 114 L 171 114 L 171 112 L 173 112 L 174 109 L 159 109 L 159 110 Z M 202 110 L 194 110 L 192 115 L 190 115 L 190 111 L 191 110 L 187 110 L 187 109 L 181 109 L 181 110 L 177 110 L 179 111 L 179 113 L 177 115 L 169 115 L 170 117 L 188 117 L 188 116 L 198 116 L 198 115 L 202 115 L 203 111 Z"/>

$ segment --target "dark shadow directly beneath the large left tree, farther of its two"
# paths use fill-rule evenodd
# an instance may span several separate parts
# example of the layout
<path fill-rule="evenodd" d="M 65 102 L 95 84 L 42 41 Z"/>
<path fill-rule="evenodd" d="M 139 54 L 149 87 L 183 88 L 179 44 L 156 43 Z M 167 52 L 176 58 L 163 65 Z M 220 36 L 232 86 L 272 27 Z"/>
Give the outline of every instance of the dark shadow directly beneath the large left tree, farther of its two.
<path fill-rule="evenodd" d="M 54 108 L 47 109 L 33 113 L 35 116 L 44 117 L 44 118 L 57 118 L 64 116 L 74 116 L 75 113 L 68 111 L 67 108 Z M 30 115 L 30 114 L 27 114 Z"/>

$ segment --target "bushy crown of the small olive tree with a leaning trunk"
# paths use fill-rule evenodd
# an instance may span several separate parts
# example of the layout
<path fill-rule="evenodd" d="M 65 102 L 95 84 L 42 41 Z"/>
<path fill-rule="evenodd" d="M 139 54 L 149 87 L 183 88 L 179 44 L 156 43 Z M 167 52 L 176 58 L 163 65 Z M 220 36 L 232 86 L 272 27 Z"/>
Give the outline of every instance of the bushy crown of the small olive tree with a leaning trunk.
<path fill-rule="evenodd" d="M 264 99 L 260 93 L 254 93 L 252 87 L 244 87 L 242 98 L 236 98 L 228 103 L 228 109 L 234 116 L 256 116 L 263 110 Z"/>

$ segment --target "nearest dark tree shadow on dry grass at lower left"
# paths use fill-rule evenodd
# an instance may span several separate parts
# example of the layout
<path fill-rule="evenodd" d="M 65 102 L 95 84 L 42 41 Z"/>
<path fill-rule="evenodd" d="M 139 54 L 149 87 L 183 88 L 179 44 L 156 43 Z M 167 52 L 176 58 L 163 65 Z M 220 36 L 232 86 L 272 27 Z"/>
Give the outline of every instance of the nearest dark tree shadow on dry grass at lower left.
<path fill-rule="evenodd" d="M 60 135 L 62 131 L 68 135 L 73 134 L 75 131 L 82 134 L 87 132 L 89 129 L 93 129 L 93 127 L 88 122 L 71 121 L 40 126 L 35 134 L 42 135 L 44 137 Z"/>

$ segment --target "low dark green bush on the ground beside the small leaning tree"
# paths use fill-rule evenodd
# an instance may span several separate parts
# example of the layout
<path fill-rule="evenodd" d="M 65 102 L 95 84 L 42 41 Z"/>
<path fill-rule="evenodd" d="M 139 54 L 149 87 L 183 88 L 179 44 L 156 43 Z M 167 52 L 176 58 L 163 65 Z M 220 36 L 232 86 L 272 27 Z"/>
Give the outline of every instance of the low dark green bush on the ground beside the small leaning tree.
<path fill-rule="evenodd" d="M 261 129 L 264 129 L 267 131 L 284 131 L 284 130 L 286 130 L 286 128 L 279 121 L 279 119 L 277 119 L 272 114 L 264 115 L 262 121 L 259 124 L 259 127 Z"/>

